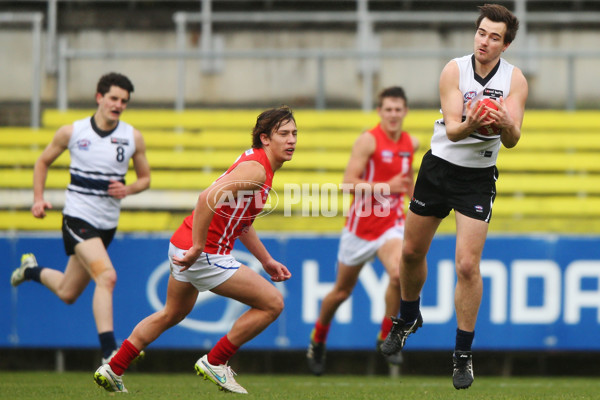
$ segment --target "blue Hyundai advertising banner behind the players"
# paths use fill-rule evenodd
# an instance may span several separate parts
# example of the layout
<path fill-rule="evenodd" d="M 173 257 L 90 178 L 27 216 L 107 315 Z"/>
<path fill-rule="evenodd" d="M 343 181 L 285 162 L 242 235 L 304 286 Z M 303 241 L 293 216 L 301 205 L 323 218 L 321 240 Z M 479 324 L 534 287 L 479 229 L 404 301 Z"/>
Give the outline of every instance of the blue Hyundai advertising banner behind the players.
<path fill-rule="evenodd" d="M 339 239 L 292 234 L 261 237 L 272 256 L 290 269 L 292 278 L 275 284 L 285 297 L 283 313 L 244 347 L 304 349 L 321 300 L 335 281 Z M 121 235 L 109 248 L 118 274 L 114 318 L 119 340 L 164 305 L 168 241 L 168 235 Z M 438 236 L 432 243 L 421 301 L 424 325 L 411 336 L 407 349 L 454 346 L 454 247 L 453 236 Z M 63 270 L 67 257 L 60 237 L 3 236 L 0 250 L 5 260 L 0 306 L 7 313 L 0 325 L 1 347 L 98 346 L 91 305 L 93 282 L 73 305 L 62 303 L 35 282 L 10 286 L 10 274 L 22 253 L 33 252 L 41 266 Z M 261 273 L 260 263 L 241 243 L 234 255 Z M 484 292 L 476 348 L 600 350 L 600 237 L 490 236 L 481 273 Z M 329 349 L 374 348 L 387 282 L 379 261 L 365 265 L 352 297 L 338 309 Z M 236 301 L 200 293 L 190 315 L 151 346 L 209 348 L 246 309 Z"/>

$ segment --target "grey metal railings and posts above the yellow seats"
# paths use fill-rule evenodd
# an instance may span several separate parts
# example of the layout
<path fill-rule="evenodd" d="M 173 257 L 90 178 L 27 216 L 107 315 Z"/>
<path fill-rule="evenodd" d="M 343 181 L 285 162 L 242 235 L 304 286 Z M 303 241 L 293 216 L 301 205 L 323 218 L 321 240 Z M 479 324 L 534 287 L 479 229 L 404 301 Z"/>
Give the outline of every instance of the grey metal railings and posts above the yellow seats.
<path fill-rule="evenodd" d="M 355 11 L 286 11 L 286 12 L 213 12 L 215 0 L 197 0 L 201 12 L 175 12 L 173 14 L 174 31 L 176 36 L 176 50 L 153 49 L 153 50 L 98 50 L 77 49 L 69 47 L 64 35 L 57 33 L 57 19 L 59 1 L 73 0 L 48 0 L 47 1 L 47 26 L 46 26 L 46 51 L 45 72 L 47 75 L 57 74 L 57 106 L 61 109 L 68 107 L 67 77 L 69 64 L 73 60 L 81 59 L 164 59 L 177 60 L 177 88 L 174 107 L 177 110 L 185 108 L 185 60 L 196 59 L 202 62 L 203 70 L 211 72 L 215 65 L 223 59 L 304 59 L 311 60 L 317 65 L 317 78 L 315 88 L 315 107 L 323 109 L 326 107 L 325 64 L 333 59 L 355 60 L 363 76 L 362 108 L 368 110 L 373 102 L 373 85 L 375 68 L 373 62 L 383 59 L 447 59 L 448 56 L 462 54 L 463 50 L 429 49 L 381 49 L 376 40 L 375 26 L 379 23 L 428 23 L 444 24 L 444 26 L 472 24 L 476 19 L 476 12 L 434 12 L 434 11 L 371 11 L 369 0 L 355 0 Z M 528 26 L 533 24 L 564 25 L 583 23 L 598 25 L 600 28 L 600 12 L 595 11 L 528 11 L 528 3 L 535 0 L 516 0 L 512 2 L 515 14 L 521 21 L 520 35 L 526 35 Z M 0 13 L 0 24 L 2 23 L 30 23 L 32 25 L 32 82 L 33 92 L 31 96 L 31 125 L 39 126 L 40 103 L 42 85 L 42 20 L 41 13 Z M 287 22 L 310 22 L 312 24 L 354 23 L 356 25 L 356 47 L 336 50 L 318 49 L 252 49 L 248 51 L 224 50 L 215 46 L 213 29 L 215 23 L 287 23 Z M 190 24 L 200 24 L 201 41 L 198 48 L 186 49 L 186 35 L 189 33 Z M 59 45 L 56 45 L 56 42 Z M 579 50 L 554 50 L 536 49 L 531 50 L 528 45 L 519 45 L 511 49 L 511 55 L 521 57 L 525 60 L 542 58 L 559 58 L 566 63 L 566 100 L 564 107 L 573 110 L 576 107 L 575 64 L 581 59 L 600 59 L 600 51 Z"/>

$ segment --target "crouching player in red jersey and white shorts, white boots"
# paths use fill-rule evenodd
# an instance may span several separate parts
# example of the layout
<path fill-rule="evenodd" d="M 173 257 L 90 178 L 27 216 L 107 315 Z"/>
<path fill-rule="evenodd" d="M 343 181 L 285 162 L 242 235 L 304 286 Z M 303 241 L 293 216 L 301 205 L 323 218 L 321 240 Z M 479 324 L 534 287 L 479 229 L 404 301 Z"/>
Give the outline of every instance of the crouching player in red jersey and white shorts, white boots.
<path fill-rule="evenodd" d="M 252 227 L 271 189 L 273 173 L 294 154 L 297 129 L 292 110 L 282 106 L 264 111 L 252 135 L 252 148 L 200 194 L 192 215 L 171 237 L 165 307 L 142 320 L 113 359 L 98 368 L 94 380 L 106 390 L 126 392 L 121 375 L 137 354 L 181 322 L 192 311 L 200 291 L 210 290 L 250 309 L 196 362 L 195 369 L 221 390 L 247 393 L 235 381 L 227 362 L 241 345 L 277 319 L 283 297 L 266 279 L 235 260 L 230 251 L 239 238 L 272 281 L 292 276 L 271 257 Z"/>

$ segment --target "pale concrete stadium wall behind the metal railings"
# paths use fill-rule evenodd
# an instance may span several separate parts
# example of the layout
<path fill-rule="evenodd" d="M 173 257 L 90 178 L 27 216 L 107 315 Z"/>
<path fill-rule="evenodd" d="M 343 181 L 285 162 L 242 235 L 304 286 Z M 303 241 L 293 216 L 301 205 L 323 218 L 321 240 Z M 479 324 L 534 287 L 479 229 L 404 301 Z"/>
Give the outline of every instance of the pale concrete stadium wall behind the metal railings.
<path fill-rule="evenodd" d="M 160 50 L 175 49 L 175 33 L 140 31 L 81 31 L 66 34 L 73 49 Z M 220 37 L 225 50 L 248 49 L 355 49 L 352 32 L 322 31 L 240 31 Z M 446 34 L 432 30 L 379 31 L 381 49 L 459 49 L 456 56 L 472 49 L 473 32 L 455 31 Z M 45 40 L 45 39 L 44 39 Z M 197 47 L 199 37 L 190 32 L 188 49 Z M 518 48 L 517 41 L 512 45 Z M 544 31 L 534 32 L 527 39 L 533 49 L 597 51 L 598 32 Z M 45 43 L 45 42 L 44 42 Z M 0 30 L 0 102 L 29 101 L 32 93 L 32 37 L 27 30 Z M 45 49 L 44 49 L 45 50 Z M 508 61 L 520 66 L 529 78 L 529 107 L 564 108 L 569 85 L 564 59 L 543 58 L 523 62 L 506 53 Z M 45 60 L 43 55 L 42 60 Z M 386 58 L 378 62 L 375 88 L 402 85 L 413 107 L 437 107 L 439 73 L 448 61 L 439 59 L 400 60 Z M 98 77 L 108 71 L 129 75 L 135 86 L 135 102 L 174 103 L 177 68 L 174 60 L 90 59 L 74 60 L 68 66 L 68 99 L 73 104 L 93 104 Z M 185 101 L 188 105 L 243 106 L 287 103 L 313 107 L 317 91 L 317 65 L 313 60 L 223 60 L 218 73 L 204 73 L 199 60 L 185 63 Z M 362 78 L 359 62 L 350 59 L 326 61 L 325 93 L 327 106 L 360 106 Z M 578 108 L 600 105 L 600 70 L 598 58 L 575 62 L 575 94 Z M 44 74 L 42 101 L 56 105 L 56 78 Z"/>

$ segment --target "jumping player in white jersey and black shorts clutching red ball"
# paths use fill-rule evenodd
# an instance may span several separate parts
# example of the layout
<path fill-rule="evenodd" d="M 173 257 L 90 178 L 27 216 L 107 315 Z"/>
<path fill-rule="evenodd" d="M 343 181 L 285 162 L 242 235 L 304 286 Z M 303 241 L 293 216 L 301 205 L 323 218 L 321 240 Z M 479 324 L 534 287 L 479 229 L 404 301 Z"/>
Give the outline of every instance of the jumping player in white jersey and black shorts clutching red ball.
<path fill-rule="evenodd" d="M 528 94 L 521 70 L 500 57 L 514 40 L 519 21 L 500 5 L 479 9 L 474 53 L 450 61 L 440 76 L 443 118 L 435 123 L 431 150 L 417 176 L 404 228 L 400 314 L 381 347 L 384 354 L 397 352 L 422 325 L 420 295 L 427 277 L 427 252 L 442 219 L 454 209 L 456 389 L 473 382 L 471 345 L 483 291 L 479 263 L 496 196 L 496 158 L 501 144 L 512 148 L 519 141 Z M 485 106 L 484 99 L 497 110 Z M 490 127 L 491 134 L 484 127 Z"/>

